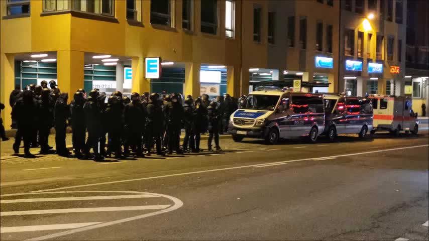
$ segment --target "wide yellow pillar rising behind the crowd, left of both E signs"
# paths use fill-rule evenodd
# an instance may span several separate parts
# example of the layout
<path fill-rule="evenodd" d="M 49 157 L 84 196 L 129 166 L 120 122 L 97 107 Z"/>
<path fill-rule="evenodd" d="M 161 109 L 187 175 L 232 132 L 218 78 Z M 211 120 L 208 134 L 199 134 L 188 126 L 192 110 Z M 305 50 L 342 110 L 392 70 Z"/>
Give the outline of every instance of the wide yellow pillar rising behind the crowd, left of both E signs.
<path fill-rule="evenodd" d="M 68 100 L 73 99 L 73 93 L 83 88 L 84 52 L 74 50 L 57 51 L 57 78 L 61 92 L 69 94 Z"/>

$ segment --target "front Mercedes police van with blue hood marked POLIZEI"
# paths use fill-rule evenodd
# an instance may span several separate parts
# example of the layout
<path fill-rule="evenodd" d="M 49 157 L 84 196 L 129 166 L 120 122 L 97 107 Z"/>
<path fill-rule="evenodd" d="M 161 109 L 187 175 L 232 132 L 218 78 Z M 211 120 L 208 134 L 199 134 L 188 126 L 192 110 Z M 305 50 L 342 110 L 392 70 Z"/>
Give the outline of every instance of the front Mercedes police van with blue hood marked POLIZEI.
<path fill-rule="evenodd" d="M 280 138 L 308 137 L 315 142 L 324 132 L 323 95 L 283 90 L 251 92 L 231 116 L 233 140 L 261 138 L 276 144 Z"/>

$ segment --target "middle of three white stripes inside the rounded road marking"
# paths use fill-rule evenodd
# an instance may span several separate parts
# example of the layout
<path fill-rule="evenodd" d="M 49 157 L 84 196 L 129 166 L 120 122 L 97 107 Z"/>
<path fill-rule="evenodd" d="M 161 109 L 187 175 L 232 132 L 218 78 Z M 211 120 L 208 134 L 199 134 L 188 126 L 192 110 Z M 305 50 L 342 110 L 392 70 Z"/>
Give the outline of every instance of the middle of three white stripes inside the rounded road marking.
<path fill-rule="evenodd" d="M 48 213 L 71 213 L 71 212 L 109 212 L 109 211 L 130 211 L 130 210 L 153 210 L 164 209 L 170 205 L 146 205 L 146 206 L 126 206 L 126 207 L 83 207 L 83 208 L 63 208 L 63 209 L 44 209 L 44 210 L 26 210 L 26 211 L 6 211 L 0 212 L 1 216 L 13 215 L 31 215 Z"/>

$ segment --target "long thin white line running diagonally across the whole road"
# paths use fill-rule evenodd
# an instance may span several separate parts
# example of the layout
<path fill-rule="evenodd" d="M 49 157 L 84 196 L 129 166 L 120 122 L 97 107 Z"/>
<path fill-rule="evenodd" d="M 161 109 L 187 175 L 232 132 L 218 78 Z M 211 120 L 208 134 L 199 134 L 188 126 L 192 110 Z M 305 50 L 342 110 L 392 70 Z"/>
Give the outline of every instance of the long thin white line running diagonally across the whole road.
<path fill-rule="evenodd" d="M 427 147 L 427 146 L 429 146 L 429 144 L 419 145 L 419 146 L 411 146 L 411 147 L 399 147 L 399 148 L 392 148 L 392 149 L 383 149 L 383 150 L 369 151 L 369 152 L 343 154 L 343 155 L 320 157 L 320 158 L 348 157 L 348 156 L 356 156 L 356 155 L 372 154 L 372 153 L 379 153 L 379 152 L 405 150 L 405 149 Z M 266 163 L 266 165 L 268 165 L 268 164 L 276 164 L 276 163 L 289 163 L 289 162 L 310 161 L 310 160 L 313 160 L 313 159 L 314 159 L 314 157 L 312 157 L 312 158 L 304 158 L 304 159 L 297 159 L 297 160 L 282 161 L 282 162 Z M 225 170 L 234 170 L 234 169 L 248 168 L 248 167 L 254 167 L 254 166 L 255 166 L 255 164 L 253 164 L 253 165 L 246 165 L 246 166 L 238 166 L 238 167 L 226 167 L 226 168 L 218 168 L 218 169 L 209 169 L 209 170 L 202 170 L 202 171 L 195 171 L 195 172 L 183 172 L 183 173 L 161 175 L 161 176 L 154 176 L 154 177 L 142 177 L 142 178 L 136 178 L 136 179 L 119 180 L 119 181 L 111 181 L 111 182 L 99 182 L 99 183 L 91 183 L 91 184 L 68 186 L 68 187 L 57 187 L 57 188 L 51 188 L 51 189 L 31 191 L 31 193 L 34 193 L 34 192 L 55 191 L 55 190 L 70 189 L 70 188 L 77 188 L 77 187 L 98 186 L 98 185 L 113 184 L 113 183 L 122 183 L 122 182 L 133 182 L 133 181 L 141 181 L 141 180 L 149 180 L 149 179 L 158 179 L 158 178 L 164 178 L 164 177 L 176 177 L 176 176 L 190 175 L 190 174 L 196 174 L 196 173 L 206 173 L 206 172 L 217 172 L 217 171 L 225 171 Z M 6 195 L 10 195 L 10 194 L 6 194 Z M 4 195 L 0 195 L 0 197 L 2 197 L 2 196 L 4 196 Z"/>

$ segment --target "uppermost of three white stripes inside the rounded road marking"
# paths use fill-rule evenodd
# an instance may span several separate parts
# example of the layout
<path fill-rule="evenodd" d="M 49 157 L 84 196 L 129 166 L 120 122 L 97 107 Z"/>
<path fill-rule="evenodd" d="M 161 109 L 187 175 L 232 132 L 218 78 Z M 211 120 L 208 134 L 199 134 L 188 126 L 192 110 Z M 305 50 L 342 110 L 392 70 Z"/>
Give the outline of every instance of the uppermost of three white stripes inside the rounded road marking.
<path fill-rule="evenodd" d="M 4 199 L 0 203 L 16 203 L 16 202 L 56 202 L 56 201 L 77 201 L 77 200 L 103 200 L 103 199 L 128 199 L 128 198 L 146 198 L 158 197 L 148 194 L 140 195 L 116 195 L 116 196 L 90 196 L 90 197 L 52 197 L 52 198 L 25 198 L 25 199 Z"/>

